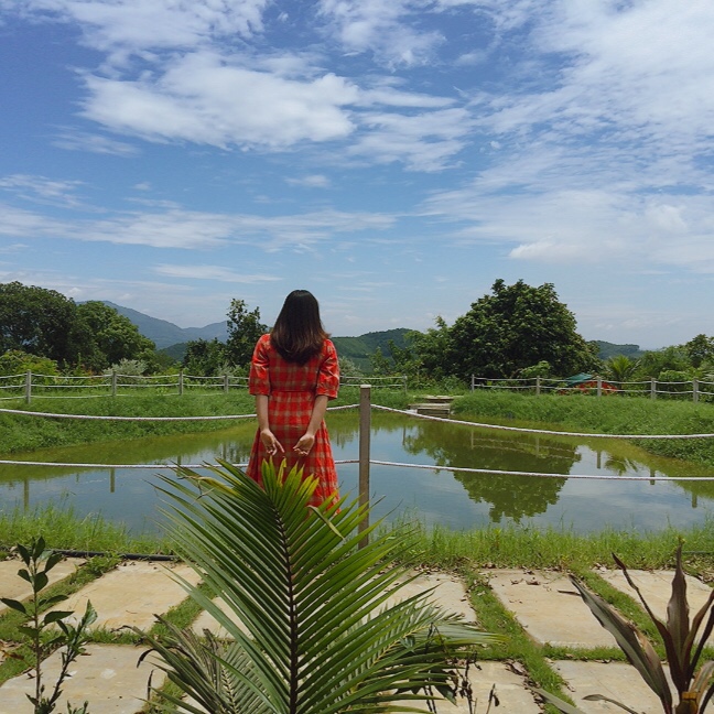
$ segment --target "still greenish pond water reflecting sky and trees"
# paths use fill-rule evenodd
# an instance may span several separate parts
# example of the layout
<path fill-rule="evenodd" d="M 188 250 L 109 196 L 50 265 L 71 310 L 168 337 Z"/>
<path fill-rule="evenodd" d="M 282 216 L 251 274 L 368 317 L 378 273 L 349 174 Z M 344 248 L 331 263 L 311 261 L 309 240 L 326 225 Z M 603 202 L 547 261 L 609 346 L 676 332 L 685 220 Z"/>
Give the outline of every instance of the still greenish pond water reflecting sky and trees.
<path fill-rule="evenodd" d="M 337 461 L 358 457 L 356 412 L 327 416 Z M 44 450 L 18 461 L 84 464 L 203 464 L 216 457 L 248 461 L 255 422 L 209 434 L 162 436 L 89 447 Z M 371 458 L 412 465 L 553 474 L 550 478 L 472 474 L 435 468 L 371 466 L 375 517 L 404 515 L 426 524 L 475 528 L 487 524 L 553 526 L 577 532 L 605 527 L 651 531 L 706 520 L 714 483 L 649 480 L 656 476 L 713 476 L 703 467 L 651 456 L 616 440 L 584 440 L 459 426 L 402 414 L 372 413 Z M 358 465 L 339 464 L 343 491 L 357 495 Z M 48 502 L 84 516 L 100 512 L 134 533 L 158 528 L 165 499 L 156 493 L 156 468 L 0 466 L 0 511 Z M 583 480 L 569 475 L 604 475 Z M 645 476 L 648 480 L 627 480 Z"/>

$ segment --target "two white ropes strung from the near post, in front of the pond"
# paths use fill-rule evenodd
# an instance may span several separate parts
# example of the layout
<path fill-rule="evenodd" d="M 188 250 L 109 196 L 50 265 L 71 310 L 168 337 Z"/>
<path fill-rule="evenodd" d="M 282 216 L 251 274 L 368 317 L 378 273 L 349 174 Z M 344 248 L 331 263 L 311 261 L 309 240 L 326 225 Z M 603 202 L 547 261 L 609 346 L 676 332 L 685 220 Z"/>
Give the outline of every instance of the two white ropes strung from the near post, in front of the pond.
<path fill-rule="evenodd" d="M 360 404 L 344 404 L 340 407 L 331 407 L 329 411 L 345 411 L 348 409 L 359 408 Z M 418 414 L 414 411 L 407 411 L 402 409 L 393 409 L 390 407 L 382 407 L 379 404 L 369 404 L 369 409 L 402 414 L 413 419 L 422 419 L 426 421 L 436 421 L 446 424 L 455 424 L 458 426 L 470 426 L 472 429 L 494 429 L 501 431 L 519 432 L 527 434 L 541 434 L 545 436 L 577 436 L 587 439 L 714 439 L 714 434 L 599 434 L 588 432 L 564 432 L 564 431 L 548 431 L 544 429 L 526 429 L 521 426 L 504 426 L 500 424 L 486 424 L 480 422 L 470 422 L 458 419 L 447 419 L 443 416 L 432 416 L 429 414 Z M 56 414 L 51 412 L 30 412 L 17 409 L 0 409 L 0 413 L 22 414 L 26 416 L 46 416 L 54 419 L 86 419 L 86 420 L 101 420 L 101 421 L 214 421 L 214 420 L 237 420 L 237 419 L 255 419 L 256 414 L 226 414 L 226 415 L 210 415 L 210 416 L 111 416 L 111 415 L 91 415 L 91 414 Z M 361 459 L 344 459 L 336 461 L 336 464 L 361 464 Z M 619 476 L 613 474 L 553 474 L 553 473 L 539 473 L 539 472 L 518 472 L 518 470 L 502 470 L 490 468 L 468 468 L 461 466 L 444 466 L 439 464 L 409 464 L 400 462 L 388 462 L 378 459 L 368 459 L 369 465 L 387 466 L 394 468 L 419 468 L 428 470 L 446 470 L 452 473 L 467 473 L 467 474 L 483 474 L 483 475 L 498 475 L 498 476 L 529 476 L 536 478 L 574 478 L 584 480 L 635 480 L 635 482 L 714 482 L 714 476 Z M 108 469 L 175 469 L 177 467 L 184 468 L 206 468 L 208 464 L 88 464 L 88 463 L 57 463 L 57 462 L 31 462 L 31 461 L 10 461 L 0 459 L 0 465 L 3 466 L 47 466 L 60 468 L 108 468 Z M 245 468 L 247 464 L 235 464 L 239 468 Z"/>

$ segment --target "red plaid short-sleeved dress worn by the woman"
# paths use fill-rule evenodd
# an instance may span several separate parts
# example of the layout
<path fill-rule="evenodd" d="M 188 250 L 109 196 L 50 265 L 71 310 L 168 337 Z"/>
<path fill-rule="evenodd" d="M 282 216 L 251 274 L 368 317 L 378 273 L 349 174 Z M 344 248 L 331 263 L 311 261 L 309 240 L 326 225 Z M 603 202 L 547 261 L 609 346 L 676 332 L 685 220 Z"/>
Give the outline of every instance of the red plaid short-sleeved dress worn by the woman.
<path fill-rule="evenodd" d="M 338 496 L 337 472 L 329 445 L 325 422 L 315 434 L 315 443 L 307 456 L 299 456 L 293 446 L 305 433 L 313 404 L 317 394 L 329 399 L 337 397 L 339 388 L 339 365 L 337 351 L 329 339 L 325 339 L 322 349 L 304 365 L 283 359 L 270 342 L 270 335 L 263 335 L 256 345 L 250 364 L 248 389 L 251 394 L 267 394 L 270 430 L 285 450 L 278 454 L 275 466 L 283 458 L 288 468 L 302 466 L 304 475 L 315 475 L 320 484 L 313 495 L 312 504 L 317 506 L 324 500 Z M 256 433 L 247 474 L 261 483 L 260 465 L 271 456 Z"/>

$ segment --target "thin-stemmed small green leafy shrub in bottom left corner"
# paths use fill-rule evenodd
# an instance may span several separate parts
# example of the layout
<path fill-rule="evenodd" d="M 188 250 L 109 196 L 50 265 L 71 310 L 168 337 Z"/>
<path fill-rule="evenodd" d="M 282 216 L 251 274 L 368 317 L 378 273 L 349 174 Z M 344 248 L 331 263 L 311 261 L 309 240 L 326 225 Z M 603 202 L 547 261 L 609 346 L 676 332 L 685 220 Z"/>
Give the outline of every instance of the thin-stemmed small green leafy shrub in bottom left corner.
<path fill-rule="evenodd" d="M 64 621 L 74 615 L 73 612 L 55 610 L 43 617 L 42 613 L 47 608 L 67 599 L 66 595 L 42 596 L 41 594 L 50 582 L 47 573 L 60 563 L 63 556 L 61 553 L 46 550 L 42 537 L 33 539 L 29 547 L 18 545 L 17 550 L 25 565 L 18 571 L 18 575 L 30 583 L 32 596 L 26 603 L 9 597 L 0 597 L 0 601 L 21 613 L 24 618 L 19 630 L 28 640 L 30 654 L 23 657 L 14 653 L 12 656 L 22 659 L 35 672 L 34 695 L 28 694 L 28 699 L 34 706 L 34 714 L 51 714 L 55 711 L 57 700 L 62 695 L 62 685 L 69 675 L 69 667 L 80 654 L 85 653 L 89 626 L 97 619 L 97 614 L 91 607 L 91 603 L 87 603 L 85 614 L 76 627 Z M 58 648 L 64 648 L 60 674 L 51 692 L 46 694 L 42 663 L 48 654 Z M 80 708 L 72 708 L 67 704 L 67 712 L 68 714 L 88 714 L 87 706 L 87 702 Z"/>

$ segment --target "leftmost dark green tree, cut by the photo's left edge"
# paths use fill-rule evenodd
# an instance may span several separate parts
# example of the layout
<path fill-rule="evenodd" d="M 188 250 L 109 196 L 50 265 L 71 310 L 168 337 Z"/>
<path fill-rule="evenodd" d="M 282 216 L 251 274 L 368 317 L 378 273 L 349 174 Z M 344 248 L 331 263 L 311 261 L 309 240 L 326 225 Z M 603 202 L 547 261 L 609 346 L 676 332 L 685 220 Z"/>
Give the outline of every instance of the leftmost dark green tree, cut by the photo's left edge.
<path fill-rule="evenodd" d="M 0 351 L 20 349 L 75 364 L 88 348 L 87 337 L 78 329 L 73 300 L 20 282 L 0 284 Z"/>

